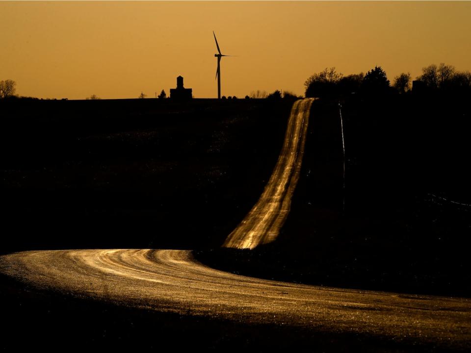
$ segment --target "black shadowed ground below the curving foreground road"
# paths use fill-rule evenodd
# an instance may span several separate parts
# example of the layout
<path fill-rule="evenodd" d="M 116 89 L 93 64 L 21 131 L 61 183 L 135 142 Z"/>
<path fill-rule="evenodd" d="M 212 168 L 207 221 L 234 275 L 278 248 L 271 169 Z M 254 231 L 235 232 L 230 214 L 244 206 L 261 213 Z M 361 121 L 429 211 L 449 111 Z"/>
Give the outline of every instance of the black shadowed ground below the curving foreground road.
<path fill-rule="evenodd" d="M 19 289 L 1 280 L 4 328 L 1 348 L 7 351 L 99 349 L 236 350 L 306 349 L 312 352 L 429 352 L 433 346 L 395 344 L 360 334 L 333 334 L 275 324 L 251 324 L 135 309 L 51 292 Z M 443 352 L 443 350 L 441 350 Z"/>

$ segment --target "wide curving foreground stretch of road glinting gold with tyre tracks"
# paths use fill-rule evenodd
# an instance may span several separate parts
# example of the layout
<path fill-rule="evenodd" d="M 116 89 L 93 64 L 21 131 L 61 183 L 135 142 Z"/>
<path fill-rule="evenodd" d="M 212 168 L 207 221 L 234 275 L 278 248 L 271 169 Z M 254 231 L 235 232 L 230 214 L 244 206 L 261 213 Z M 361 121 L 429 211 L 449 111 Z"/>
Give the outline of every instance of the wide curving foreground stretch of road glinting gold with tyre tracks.
<path fill-rule="evenodd" d="M 0 272 L 39 290 L 248 323 L 471 346 L 471 301 L 238 276 L 180 250 L 64 250 L 0 257 Z"/>

